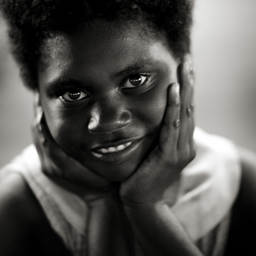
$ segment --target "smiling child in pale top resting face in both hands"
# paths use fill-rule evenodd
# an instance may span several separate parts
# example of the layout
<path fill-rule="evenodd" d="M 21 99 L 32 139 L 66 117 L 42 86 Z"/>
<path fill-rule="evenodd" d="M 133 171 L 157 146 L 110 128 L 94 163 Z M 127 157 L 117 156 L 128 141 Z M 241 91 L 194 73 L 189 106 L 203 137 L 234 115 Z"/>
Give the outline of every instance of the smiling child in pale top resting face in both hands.
<path fill-rule="evenodd" d="M 0 172 L 0 255 L 253 248 L 255 156 L 194 133 L 191 1 L 1 8 L 36 118 L 35 145 Z"/>

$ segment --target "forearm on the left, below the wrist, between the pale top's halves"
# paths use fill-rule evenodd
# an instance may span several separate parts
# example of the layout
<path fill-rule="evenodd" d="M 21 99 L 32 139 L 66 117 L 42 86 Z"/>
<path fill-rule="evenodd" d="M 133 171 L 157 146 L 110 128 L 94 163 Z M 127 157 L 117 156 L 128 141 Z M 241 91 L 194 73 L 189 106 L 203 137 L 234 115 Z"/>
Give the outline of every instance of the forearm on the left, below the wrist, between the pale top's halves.
<path fill-rule="evenodd" d="M 112 197 L 91 204 L 87 231 L 89 256 L 131 255 L 129 222 L 125 223 L 121 211 Z"/>

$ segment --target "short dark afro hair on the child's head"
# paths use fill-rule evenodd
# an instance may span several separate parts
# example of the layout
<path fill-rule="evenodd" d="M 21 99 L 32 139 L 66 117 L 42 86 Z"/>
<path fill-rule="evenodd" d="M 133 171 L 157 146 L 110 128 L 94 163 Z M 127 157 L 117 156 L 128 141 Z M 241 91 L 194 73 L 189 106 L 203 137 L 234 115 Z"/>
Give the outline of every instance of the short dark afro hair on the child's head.
<path fill-rule="evenodd" d="M 95 18 L 141 20 L 164 32 L 174 57 L 189 53 L 193 0 L 0 0 L 12 53 L 24 84 L 33 90 L 40 44 L 52 31 L 68 32 Z"/>

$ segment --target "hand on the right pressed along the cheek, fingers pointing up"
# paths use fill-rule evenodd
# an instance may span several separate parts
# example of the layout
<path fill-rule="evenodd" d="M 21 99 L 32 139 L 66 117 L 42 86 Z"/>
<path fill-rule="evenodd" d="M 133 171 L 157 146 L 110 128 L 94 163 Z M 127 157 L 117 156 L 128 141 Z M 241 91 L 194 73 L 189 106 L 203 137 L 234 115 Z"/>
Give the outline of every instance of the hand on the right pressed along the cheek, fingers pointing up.
<path fill-rule="evenodd" d="M 124 206 L 138 208 L 163 200 L 164 191 L 196 156 L 193 141 L 193 69 L 186 59 L 178 67 L 178 81 L 168 88 L 167 106 L 156 148 L 120 186 Z M 191 83 L 191 84 L 190 84 Z"/>

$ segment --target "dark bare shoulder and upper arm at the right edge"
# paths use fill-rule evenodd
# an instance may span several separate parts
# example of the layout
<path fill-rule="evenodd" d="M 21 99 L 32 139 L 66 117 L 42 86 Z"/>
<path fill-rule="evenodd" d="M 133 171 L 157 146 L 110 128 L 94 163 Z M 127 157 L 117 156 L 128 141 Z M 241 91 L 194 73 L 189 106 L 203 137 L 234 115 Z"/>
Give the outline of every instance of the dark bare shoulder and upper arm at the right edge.
<path fill-rule="evenodd" d="M 232 220 L 225 255 L 255 254 L 256 240 L 256 154 L 238 148 L 241 181 L 233 206 Z"/>

